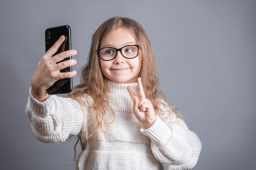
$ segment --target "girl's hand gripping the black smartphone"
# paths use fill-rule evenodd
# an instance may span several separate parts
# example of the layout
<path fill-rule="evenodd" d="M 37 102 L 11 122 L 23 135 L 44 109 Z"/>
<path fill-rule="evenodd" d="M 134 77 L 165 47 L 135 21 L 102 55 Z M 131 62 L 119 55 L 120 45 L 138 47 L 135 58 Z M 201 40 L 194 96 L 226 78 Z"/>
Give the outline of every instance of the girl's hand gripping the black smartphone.
<path fill-rule="evenodd" d="M 43 102 L 49 96 L 46 91 L 47 88 L 52 86 L 58 79 L 70 78 L 76 75 L 76 71 L 60 72 L 61 69 L 76 64 L 75 59 L 60 62 L 67 57 L 76 55 L 76 50 L 68 50 L 54 55 L 64 40 L 65 37 L 62 35 L 45 55 L 43 55 L 41 61 L 38 62 L 36 72 L 31 78 L 31 93 L 39 102 Z M 57 62 L 60 63 L 56 64 Z"/>

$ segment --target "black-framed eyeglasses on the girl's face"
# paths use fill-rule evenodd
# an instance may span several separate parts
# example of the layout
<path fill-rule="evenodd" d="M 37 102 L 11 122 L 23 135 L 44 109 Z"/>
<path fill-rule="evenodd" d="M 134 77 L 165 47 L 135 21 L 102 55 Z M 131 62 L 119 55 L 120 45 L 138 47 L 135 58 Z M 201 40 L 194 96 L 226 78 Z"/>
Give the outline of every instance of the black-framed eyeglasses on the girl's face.
<path fill-rule="evenodd" d="M 140 45 L 128 45 L 121 49 L 116 49 L 114 47 L 104 47 L 97 49 L 99 56 L 102 60 L 109 61 L 117 57 L 117 52 L 120 51 L 125 58 L 135 58 L 139 55 Z"/>

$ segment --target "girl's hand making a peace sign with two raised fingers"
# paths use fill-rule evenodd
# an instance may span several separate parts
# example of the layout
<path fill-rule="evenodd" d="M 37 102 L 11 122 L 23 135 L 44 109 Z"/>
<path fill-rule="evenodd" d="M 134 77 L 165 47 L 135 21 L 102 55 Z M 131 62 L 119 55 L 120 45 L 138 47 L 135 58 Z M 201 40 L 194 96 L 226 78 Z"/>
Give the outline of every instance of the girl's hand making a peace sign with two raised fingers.
<path fill-rule="evenodd" d="M 143 128 L 147 129 L 155 123 L 156 115 L 150 100 L 146 99 L 143 86 L 141 83 L 141 78 L 137 79 L 139 97 L 137 97 L 130 86 L 127 90 L 133 101 L 133 113 L 138 121 L 142 124 Z"/>

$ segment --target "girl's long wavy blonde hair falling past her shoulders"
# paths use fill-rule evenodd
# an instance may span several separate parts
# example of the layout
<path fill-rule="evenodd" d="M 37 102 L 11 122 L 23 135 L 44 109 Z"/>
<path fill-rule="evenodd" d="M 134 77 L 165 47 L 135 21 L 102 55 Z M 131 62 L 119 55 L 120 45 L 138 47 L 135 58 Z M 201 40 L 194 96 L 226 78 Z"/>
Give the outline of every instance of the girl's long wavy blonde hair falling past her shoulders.
<path fill-rule="evenodd" d="M 167 105 L 163 102 L 165 101 L 165 96 L 163 95 L 159 85 L 157 64 L 146 31 L 138 22 L 130 18 L 110 18 L 103 22 L 103 24 L 101 24 L 93 34 L 88 62 L 81 72 L 81 83 L 74 88 L 72 94 L 68 95 L 68 97 L 78 100 L 81 104 L 85 104 L 84 101 L 81 100 L 81 96 L 86 95 L 92 97 L 93 107 L 96 111 L 96 119 L 98 123 L 94 133 L 98 129 L 103 130 L 103 125 L 106 124 L 104 117 L 106 110 L 112 110 L 108 104 L 108 95 L 106 91 L 107 78 L 101 72 L 97 49 L 99 48 L 104 36 L 118 28 L 124 28 L 133 33 L 141 45 L 142 62 L 139 77 L 142 79 L 146 98 L 152 102 L 155 113 L 160 116 L 161 111 L 159 104 L 163 104 L 171 110 L 175 109 L 174 106 Z M 113 110 L 112 114 L 115 116 Z"/>

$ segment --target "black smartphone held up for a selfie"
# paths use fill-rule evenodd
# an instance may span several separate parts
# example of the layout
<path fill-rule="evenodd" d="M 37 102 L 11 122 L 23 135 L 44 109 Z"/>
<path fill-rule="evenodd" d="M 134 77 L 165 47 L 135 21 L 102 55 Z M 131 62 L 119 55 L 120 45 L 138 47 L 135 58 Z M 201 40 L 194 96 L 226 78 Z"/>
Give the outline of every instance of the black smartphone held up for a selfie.
<path fill-rule="evenodd" d="M 70 26 L 63 25 L 63 26 L 47 28 L 45 30 L 45 51 L 48 51 L 53 46 L 53 44 L 61 37 L 61 35 L 65 36 L 65 41 L 61 44 L 58 51 L 54 55 L 61 53 L 63 51 L 71 50 Z M 70 60 L 71 57 L 72 56 L 67 57 L 61 62 L 65 60 Z M 68 71 L 72 71 L 72 66 L 60 70 L 60 72 L 68 72 Z M 48 94 L 65 94 L 65 93 L 70 93 L 71 91 L 72 91 L 72 77 L 59 79 L 57 82 L 55 82 L 51 87 L 47 89 Z"/>

